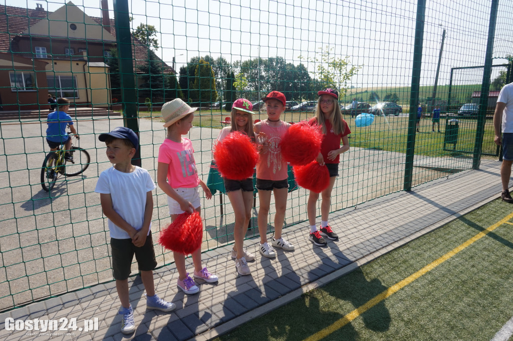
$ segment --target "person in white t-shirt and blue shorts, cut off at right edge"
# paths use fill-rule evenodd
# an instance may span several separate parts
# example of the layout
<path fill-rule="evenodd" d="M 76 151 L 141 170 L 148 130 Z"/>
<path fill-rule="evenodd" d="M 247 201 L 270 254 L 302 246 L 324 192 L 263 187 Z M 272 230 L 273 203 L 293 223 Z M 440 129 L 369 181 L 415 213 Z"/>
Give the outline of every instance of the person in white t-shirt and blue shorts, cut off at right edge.
<path fill-rule="evenodd" d="M 513 163 L 513 83 L 506 84 L 499 93 L 494 113 L 494 130 L 495 144 L 502 145 L 501 198 L 503 202 L 513 204 L 513 198 L 509 194 L 509 178 Z"/>

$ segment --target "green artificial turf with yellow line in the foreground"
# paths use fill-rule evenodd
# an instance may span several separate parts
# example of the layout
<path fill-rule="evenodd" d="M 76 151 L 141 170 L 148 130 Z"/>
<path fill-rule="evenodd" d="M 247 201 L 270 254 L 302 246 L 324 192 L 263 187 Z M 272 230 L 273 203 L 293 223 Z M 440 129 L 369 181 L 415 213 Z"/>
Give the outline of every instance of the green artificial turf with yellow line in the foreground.
<path fill-rule="evenodd" d="M 216 340 L 510 339 L 512 212 L 494 200 Z"/>

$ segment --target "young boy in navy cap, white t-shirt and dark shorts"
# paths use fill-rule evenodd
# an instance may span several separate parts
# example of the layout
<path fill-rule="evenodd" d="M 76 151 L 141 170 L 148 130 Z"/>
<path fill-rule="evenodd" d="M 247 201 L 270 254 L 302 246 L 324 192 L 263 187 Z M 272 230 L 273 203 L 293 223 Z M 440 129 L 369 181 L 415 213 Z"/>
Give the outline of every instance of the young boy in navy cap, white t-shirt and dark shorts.
<path fill-rule="evenodd" d="M 113 166 L 100 174 L 94 191 L 100 193 L 103 213 L 109 221 L 112 270 L 123 315 L 121 332 L 135 330 L 133 310 L 128 295 L 128 277 L 135 255 L 146 290 L 146 308 L 171 311 L 173 303 L 155 294 L 153 269 L 157 263 L 151 238 L 152 191 L 155 183 L 147 170 L 133 166 L 132 157 L 139 138 L 129 128 L 118 127 L 98 139 L 107 145 L 107 157 Z"/>

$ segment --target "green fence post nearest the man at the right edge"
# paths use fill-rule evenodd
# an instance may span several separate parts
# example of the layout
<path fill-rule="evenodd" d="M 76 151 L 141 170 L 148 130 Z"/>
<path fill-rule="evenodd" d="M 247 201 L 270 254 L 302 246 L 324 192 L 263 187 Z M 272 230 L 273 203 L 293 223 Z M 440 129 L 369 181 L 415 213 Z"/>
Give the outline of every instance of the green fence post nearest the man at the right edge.
<path fill-rule="evenodd" d="M 495 24 L 497 22 L 497 8 L 499 0 L 492 0 L 490 8 L 490 23 L 488 26 L 488 42 L 486 43 L 486 56 L 483 70 L 483 84 L 481 86 L 481 98 L 479 99 L 478 126 L 476 130 L 476 142 L 474 143 L 474 153 L 472 168 L 479 169 L 481 163 L 481 150 L 483 146 L 484 124 L 486 119 L 486 109 L 488 108 L 488 92 L 490 90 L 492 53 L 494 52 Z"/>

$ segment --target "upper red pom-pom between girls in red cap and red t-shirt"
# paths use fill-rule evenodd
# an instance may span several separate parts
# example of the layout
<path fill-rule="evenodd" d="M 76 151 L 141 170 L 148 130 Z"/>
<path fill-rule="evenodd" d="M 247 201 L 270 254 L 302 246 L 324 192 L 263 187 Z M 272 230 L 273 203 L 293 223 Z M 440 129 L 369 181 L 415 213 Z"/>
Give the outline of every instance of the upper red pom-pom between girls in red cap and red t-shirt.
<path fill-rule="evenodd" d="M 292 166 L 307 165 L 319 155 L 322 138 L 320 126 L 307 121 L 294 124 L 282 137 L 282 156 Z"/>

